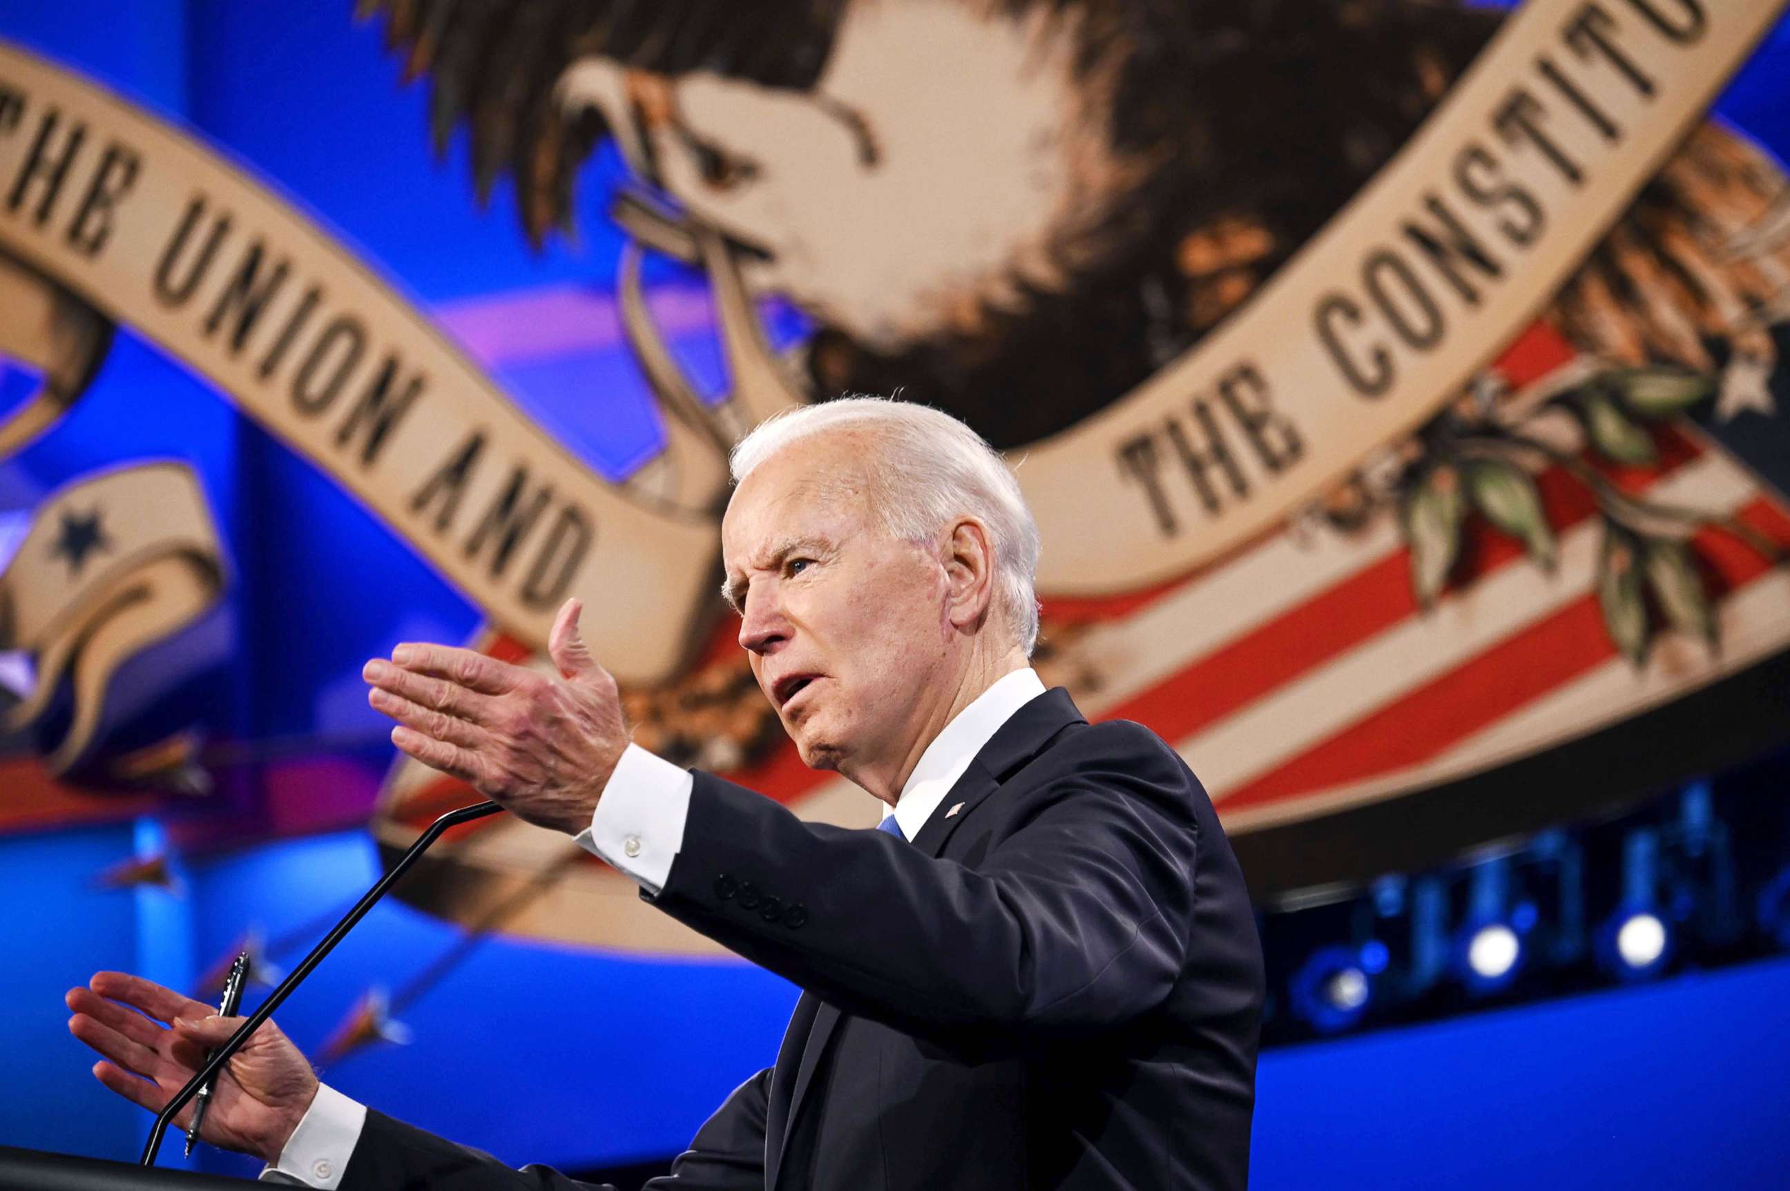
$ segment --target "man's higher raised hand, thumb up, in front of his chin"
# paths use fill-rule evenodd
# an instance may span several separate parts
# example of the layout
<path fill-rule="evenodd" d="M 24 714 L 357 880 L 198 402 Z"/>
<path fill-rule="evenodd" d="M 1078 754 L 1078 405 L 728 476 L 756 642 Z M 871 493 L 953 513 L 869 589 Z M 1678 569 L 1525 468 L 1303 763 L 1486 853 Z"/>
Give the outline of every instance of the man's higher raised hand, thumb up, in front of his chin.
<path fill-rule="evenodd" d="M 575 835 L 628 748 L 616 680 L 578 637 L 576 599 L 553 622 L 560 676 L 473 649 L 405 644 L 367 662 L 367 701 L 397 721 L 392 744 L 528 823 Z"/>

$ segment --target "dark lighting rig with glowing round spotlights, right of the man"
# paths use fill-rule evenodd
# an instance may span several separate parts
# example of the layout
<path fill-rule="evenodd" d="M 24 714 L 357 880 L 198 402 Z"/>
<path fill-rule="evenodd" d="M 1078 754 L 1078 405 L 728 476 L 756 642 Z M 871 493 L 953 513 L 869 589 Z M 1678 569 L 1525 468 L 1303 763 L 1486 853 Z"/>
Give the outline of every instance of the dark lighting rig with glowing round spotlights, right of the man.
<path fill-rule="evenodd" d="M 1264 1044 L 1790 951 L 1790 749 L 1597 823 L 1260 912 Z"/>

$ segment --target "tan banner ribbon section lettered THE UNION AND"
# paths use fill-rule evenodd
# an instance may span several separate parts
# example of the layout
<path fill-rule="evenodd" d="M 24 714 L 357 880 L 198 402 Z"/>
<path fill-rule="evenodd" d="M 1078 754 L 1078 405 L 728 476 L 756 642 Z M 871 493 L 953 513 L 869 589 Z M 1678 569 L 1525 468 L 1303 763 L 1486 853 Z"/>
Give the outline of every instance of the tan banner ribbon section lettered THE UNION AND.
<path fill-rule="evenodd" d="M 0 254 L 186 361 L 535 647 L 582 596 L 596 655 L 650 681 L 718 608 L 711 515 L 609 485 L 311 218 L 5 45 Z"/>

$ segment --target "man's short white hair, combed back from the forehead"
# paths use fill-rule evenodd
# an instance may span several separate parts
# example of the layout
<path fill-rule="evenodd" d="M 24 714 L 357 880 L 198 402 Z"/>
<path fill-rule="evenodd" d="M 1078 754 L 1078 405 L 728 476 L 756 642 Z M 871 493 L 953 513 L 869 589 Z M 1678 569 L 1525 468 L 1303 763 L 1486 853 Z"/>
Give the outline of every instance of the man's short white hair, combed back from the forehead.
<path fill-rule="evenodd" d="M 841 397 L 761 422 L 734 447 L 737 485 L 784 447 L 827 431 L 863 431 L 872 515 L 895 538 L 934 545 L 954 517 L 976 517 L 993 549 L 993 606 L 1026 656 L 1038 644 L 1038 522 L 1001 454 L 958 418 L 888 397 Z"/>

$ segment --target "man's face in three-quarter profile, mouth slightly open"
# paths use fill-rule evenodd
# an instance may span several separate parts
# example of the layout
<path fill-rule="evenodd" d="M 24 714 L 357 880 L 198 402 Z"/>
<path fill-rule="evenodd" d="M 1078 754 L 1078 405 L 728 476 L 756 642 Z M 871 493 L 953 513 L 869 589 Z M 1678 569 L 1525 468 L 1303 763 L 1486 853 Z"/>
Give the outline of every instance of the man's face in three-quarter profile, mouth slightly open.
<path fill-rule="evenodd" d="M 721 522 L 739 644 L 804 764 L 848 776 L 899 762 L 949 676 L 945 569 L 875 524 L 856 463 L 822 433 L 761 463 Z"/>

